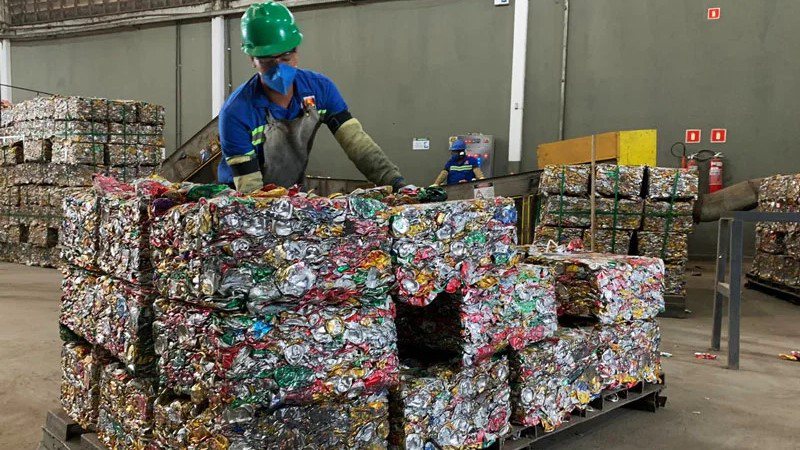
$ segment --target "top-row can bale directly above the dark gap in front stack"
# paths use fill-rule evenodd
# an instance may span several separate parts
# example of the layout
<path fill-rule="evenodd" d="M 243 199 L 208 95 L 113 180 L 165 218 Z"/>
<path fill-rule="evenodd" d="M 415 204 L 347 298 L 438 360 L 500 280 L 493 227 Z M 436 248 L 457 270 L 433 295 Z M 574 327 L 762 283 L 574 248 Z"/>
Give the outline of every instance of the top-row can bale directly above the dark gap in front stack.
<path fill-rule="evenodd" d="M 503 197 L 393 208 L 394 299 L 424 306 L 513 264 L 516 222 L 514 201 Z"/>

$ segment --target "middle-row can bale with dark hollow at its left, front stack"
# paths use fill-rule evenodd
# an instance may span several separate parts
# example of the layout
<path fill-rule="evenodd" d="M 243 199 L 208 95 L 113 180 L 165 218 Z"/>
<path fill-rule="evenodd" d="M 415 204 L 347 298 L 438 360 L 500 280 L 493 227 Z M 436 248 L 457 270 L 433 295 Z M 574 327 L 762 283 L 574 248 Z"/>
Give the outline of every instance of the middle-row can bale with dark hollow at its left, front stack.
<path fill-rule="evenodd" d="M 398 342 L 452 352 L 464 366 L 540 341 L 556 326 L 552 275 L 530 264 L 496 269 L 463 294 L 440 294 L 426 307 L 398 305 Z"/>

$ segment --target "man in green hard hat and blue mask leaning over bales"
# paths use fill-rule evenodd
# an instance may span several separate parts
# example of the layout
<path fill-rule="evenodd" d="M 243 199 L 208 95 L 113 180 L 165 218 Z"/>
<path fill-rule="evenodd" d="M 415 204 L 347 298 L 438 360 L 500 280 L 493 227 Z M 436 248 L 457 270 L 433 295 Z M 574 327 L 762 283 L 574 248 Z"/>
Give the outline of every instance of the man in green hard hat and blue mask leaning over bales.
<path fill-rule="evenodd" d="M 258 72 L 219 114 L 223 158 L 218 180 L 252 192 L 265 184 L 302 184 L 314 135 L 331 130 L 367 179 L 398 189 L 402 175 L 354 118 L 330 78 L 297 68 L 303 34 L 280 3 L 251 5 L 242 16 L 242 50 Z"/>

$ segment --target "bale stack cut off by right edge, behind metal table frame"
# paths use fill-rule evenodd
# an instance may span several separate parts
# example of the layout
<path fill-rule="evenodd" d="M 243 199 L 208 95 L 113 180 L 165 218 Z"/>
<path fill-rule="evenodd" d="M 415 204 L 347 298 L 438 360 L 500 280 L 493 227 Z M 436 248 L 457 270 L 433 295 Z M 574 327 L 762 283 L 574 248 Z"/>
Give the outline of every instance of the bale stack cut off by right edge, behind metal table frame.
<path fill-rule="evenodd" d="M 800 212 L 800 175 L 776 175 L 761 182 L 758 206 L 765 212 Z M 756 252 L 748 274 L 794 291 L 800 288 L 800 225 L 759 222 Z"/>

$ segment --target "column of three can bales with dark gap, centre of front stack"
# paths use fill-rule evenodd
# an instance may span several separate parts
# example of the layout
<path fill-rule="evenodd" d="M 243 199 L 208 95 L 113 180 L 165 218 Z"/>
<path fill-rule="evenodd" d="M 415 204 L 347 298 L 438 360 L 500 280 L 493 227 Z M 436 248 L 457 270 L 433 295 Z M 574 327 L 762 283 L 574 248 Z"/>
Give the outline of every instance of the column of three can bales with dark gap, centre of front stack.
<path fill-rule="evenodd" d="M 510 199 L 393 211 L 398 346 L 393 448 L 482 448 L 509 430 L 508 360 L 555 330 L 547 269 L 518 264 Z"/>

